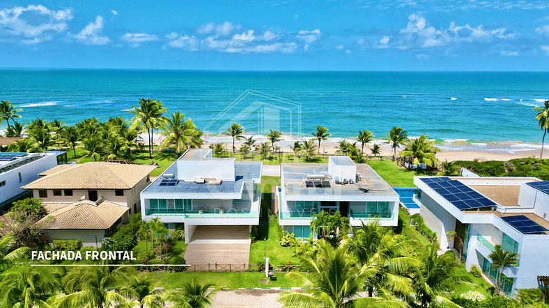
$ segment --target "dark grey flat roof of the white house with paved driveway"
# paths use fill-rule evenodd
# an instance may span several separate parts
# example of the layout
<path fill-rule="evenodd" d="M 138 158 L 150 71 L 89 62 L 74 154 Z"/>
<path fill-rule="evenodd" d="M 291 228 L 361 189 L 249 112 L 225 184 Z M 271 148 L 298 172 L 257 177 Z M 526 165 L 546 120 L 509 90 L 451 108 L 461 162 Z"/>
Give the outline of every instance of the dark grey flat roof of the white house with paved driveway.
<path fill-rule="evenodd" d="M 178 173 L 177 163 L 172 163 L 163 174 Z M 222 184 L 198 184 L 194 181 L 178 181 L 174 186 L 160 186 L 164 177 L 153 181 L 142 193 L 240 193 L 245 181 L 261 180 L 261 162 L 236 161 L 235 181 L 223 181 Z"/>

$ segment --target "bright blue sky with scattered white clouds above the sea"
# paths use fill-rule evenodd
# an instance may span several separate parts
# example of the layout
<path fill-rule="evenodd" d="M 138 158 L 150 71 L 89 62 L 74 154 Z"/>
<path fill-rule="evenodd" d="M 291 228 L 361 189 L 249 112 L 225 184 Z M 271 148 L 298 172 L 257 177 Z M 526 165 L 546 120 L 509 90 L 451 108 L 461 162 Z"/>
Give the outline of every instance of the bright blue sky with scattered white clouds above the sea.
<path fill-rule="evenodd" d="M 549 70 L 549 1 L 2 1 L 0 67 Z"/>

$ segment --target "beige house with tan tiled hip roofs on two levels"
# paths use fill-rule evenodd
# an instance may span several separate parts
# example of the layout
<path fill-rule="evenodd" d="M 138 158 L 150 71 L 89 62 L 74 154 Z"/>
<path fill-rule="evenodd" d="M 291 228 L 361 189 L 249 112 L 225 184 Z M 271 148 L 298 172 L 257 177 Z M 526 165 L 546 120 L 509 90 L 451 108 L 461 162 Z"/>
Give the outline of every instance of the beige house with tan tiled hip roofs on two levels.
<path fill-rule="evenodd" d="M 140 208 L 139 193 L 150 183 L 154 165 L 91 162 L 57 165 L 22 188 L 40 198 L 49 242 L 55 239 L 101 245 Z"/>

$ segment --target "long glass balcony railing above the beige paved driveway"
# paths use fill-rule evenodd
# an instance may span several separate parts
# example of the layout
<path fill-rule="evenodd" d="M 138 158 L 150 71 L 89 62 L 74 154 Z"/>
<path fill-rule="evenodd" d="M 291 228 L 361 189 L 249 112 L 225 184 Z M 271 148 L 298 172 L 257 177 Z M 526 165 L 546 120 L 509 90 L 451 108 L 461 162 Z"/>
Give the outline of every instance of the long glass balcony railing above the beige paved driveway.
<path fill-rule="evenodd" d="M 185 209 L 150 209 L 145 208 L 146 216 L 183 216 L 185 218 L 258 218 L 259 211 L 235 210 L 209 211 L 209 210 L 185 210 Z"/>

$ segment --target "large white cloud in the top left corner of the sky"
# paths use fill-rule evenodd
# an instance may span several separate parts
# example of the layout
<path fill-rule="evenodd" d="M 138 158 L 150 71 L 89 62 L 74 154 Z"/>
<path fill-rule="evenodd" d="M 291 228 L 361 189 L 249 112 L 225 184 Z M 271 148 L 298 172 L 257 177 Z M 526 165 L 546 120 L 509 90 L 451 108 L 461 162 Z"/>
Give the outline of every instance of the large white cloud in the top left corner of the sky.
<path fill-rule="evenodd" d="M 25 15 L 34 14 L 31 18 Z M 31 24 L 27 23 L 28 19 Z M 0 28 L 2 33 L 36 40 L 23 40 L 22 44 L 36 44 L 53 38 L 52 33 L 61 33 L 67 29 L 67 21 L 72 19 L 72 10 L 49 10 L 45 6 L 31 5 L 26 8 L 15 6 L 0 10 Z"/>

